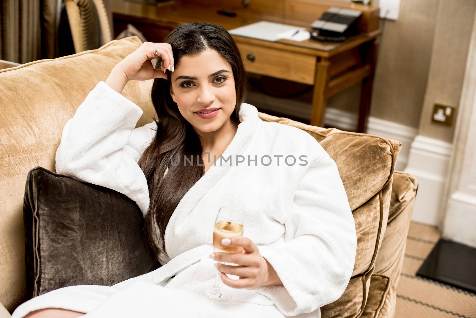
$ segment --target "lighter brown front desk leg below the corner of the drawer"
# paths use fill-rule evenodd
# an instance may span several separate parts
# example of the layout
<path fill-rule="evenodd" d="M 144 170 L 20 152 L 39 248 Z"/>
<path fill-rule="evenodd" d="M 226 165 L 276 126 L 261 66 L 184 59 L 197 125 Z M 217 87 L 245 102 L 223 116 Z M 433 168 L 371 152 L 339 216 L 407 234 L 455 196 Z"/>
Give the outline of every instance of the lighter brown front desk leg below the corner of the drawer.
<path fill-rule="evenodd" d="M 329 60 L 322 58 L 317 63 L 316 82 L 312 94 L 311 125 L 324 127 L 324 114 L 326 113 L 327 97 L 326 87 L 329 79 Z"/>

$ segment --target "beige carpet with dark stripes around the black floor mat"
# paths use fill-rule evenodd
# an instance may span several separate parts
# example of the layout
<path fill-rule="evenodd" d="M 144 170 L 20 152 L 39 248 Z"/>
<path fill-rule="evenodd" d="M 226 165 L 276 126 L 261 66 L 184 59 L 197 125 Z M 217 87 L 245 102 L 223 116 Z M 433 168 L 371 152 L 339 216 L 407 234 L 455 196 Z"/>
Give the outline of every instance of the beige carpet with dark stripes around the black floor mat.
<path fill-rule="evenodd" d="M 411 222 L 395 318 L 476 318 L 476 294 L 416 276 L 440 237 L 436 228 Z"/>

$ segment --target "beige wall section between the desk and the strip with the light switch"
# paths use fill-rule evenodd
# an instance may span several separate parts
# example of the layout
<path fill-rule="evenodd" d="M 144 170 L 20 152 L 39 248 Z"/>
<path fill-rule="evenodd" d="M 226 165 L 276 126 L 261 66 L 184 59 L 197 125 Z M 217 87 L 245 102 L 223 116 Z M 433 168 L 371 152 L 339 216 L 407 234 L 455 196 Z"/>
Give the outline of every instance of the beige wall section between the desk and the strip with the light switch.
<path fill-rule="evenodd" d="M 370 116 L 418 127 L 439 3 L 402 0 L 398 20 L 385 20 Z"/>

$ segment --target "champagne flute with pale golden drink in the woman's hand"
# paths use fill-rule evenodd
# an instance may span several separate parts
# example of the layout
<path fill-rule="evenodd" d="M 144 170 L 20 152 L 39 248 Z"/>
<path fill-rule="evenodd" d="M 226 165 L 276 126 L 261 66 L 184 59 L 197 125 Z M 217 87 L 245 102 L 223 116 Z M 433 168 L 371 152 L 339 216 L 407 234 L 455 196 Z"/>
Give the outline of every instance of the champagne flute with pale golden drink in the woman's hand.
<path fill-rule="evenodd" d="M 244 221 L 245 212 L 241 209 L 224 206 L 218 210 L 215 227 L 213 229 L 213 248 L 215 252 L 236 253 L 238 246 L 223 245 L 221 244 L 221 240 L 232 236 L 243 235 Z M 230 294 L 226 290 L 220 290 L 219 283 L 220 277 L 217 271 L 213 286 L 202 288 L 200 295 L 211 300 L 228 302 L 230 300 Z"/>

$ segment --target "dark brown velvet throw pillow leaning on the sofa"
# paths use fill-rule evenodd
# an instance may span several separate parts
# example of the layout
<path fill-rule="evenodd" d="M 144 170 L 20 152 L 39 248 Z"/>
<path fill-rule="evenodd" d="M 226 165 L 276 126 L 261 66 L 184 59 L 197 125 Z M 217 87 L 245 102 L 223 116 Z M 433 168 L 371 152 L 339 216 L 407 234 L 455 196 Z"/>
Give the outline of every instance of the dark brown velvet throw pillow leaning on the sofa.
<path fill-rule="evenodd" d="M 111 286 L 160 266 L 127 196 L 42 167 L 29 171 L 23 202 L 29 298 L 71 285 Z"/>

